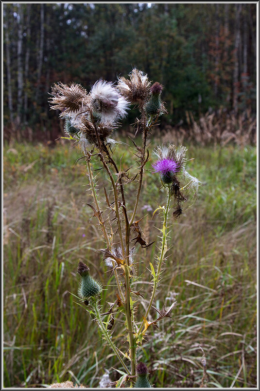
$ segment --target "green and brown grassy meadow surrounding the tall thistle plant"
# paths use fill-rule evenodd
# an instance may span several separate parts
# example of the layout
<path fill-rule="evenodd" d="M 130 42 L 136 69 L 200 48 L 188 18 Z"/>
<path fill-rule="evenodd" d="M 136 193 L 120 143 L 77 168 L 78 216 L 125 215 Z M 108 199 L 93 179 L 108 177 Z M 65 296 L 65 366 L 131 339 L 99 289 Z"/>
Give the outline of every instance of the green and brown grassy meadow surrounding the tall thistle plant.
<path fill-rule="evenodd" d="M 130 142 L 129 142 L 130 143 Z M 150 152 L 156 146 L 151 141 Z M 123 168 L 133 162 L 127 146 Z M 151 154 L 152 155 L 152 154 Z M 98 387 L 104 368 L 112 381 L 120 369 L 98 328 L 75 301 L 79 260 L 108 289 L 104 312 L 115 301 L 115 281 L 102 262 L 104 248 L 93 212 L 86 205 L 84 160 L 69 141 L 4 146 L 3 321 L 4 387 L 44 387 L 71 380 Z M 138 359 L 148 366 L 155 387 L 257 387 L 256 147 L 190 145 L 188 171 L 202 182 L 198 199 L 173 223 L 156 306 L 177 303 L 172 318 L 149 328 Z M 152 157 L 154 159 L 154 157 Z M 97 164 L 98 167 L 98 164 Z M 161 216 L 153 211 L 166 195 L 150 169 L 137 218 L 146 240 L 159 241 Z M 104 174 L 98 172 L 102 192 Z M 135 199 L 127 191 L 129 208 Z M 150 207 L 148 207 L 148 205 Z M 147 209 L 148 208 L 148 209 Z M 156 243 L 138 248 L 139 321 L 149 299 Z M 166 299 L 165 299 L 166 297 Z M 121 346 L 123 319 L 113 338 Z M 202 349 L 201 349 L 201 348 Z M 207 373 L 204 371 L 204 353 Z"/>

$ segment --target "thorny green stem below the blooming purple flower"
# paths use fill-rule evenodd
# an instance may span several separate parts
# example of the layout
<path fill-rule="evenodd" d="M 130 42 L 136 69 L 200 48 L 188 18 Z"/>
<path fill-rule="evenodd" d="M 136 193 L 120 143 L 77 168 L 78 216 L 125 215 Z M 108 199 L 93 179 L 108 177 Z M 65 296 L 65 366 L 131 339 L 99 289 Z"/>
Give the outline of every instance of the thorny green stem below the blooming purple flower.
<path fill-rule="evenodd" d="M 164 221 L 163 221 L 163 227 L 162 227 L 162 244 L 161 244 L 160 257 L 159 257 L 159 261 L 158 261 L 158 264 L 157 264 L 156 276 L 154 278 L 153 292 L 152 292 L 152 295 L 150 297 L 150 301 L 149 301 L 146 313 L 144 315 L 144 319 L 147 319 L 147 316 L 148 316 L 148 314 L 150 312 L 150 309 L 152 307 L 152 304 L 153 304 L 153 301 L 154 301 L 154 298 L 155 298 L 155 295 L 156 295 L 156 289 L 157 289 L 157 286 L 158 286 L 159 278 L 160 278 L 161 266 L 162 266 L 162 262 L 163 262 L 164 255 L 165 255 L 165 246 L 167 245 L 166 229 L 167 229 L 167 219 L 168 219 L 170 201 L 171 201 L 171 195 L 170 195 L 170 192 L 168 192 L 167 205 L 166 205 L 166 208 L 165 208 L 165 211 L 164 211 Z M 144 320 L 142 320 L 142 323 L 141 323 L 141 325 L 139 327 L 138 336 L 142 332 L 143 325 L 144 325 Z"/>

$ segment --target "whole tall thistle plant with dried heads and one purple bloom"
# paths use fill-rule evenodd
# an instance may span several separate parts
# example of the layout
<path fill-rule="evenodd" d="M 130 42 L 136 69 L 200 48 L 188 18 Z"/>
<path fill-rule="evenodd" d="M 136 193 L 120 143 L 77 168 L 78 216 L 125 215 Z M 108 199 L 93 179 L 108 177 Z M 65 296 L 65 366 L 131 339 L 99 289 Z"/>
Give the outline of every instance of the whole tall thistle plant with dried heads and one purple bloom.
<path fill-rule="evenodd" d="M 75 141 L 86 162 L 91 208 L 98 226 L 102 232 L 104 248 L 100 249 L 100 259 L 114 275 L 116 289 L 113 303 L 109 309 L 103 309 L 100 298 L 104 293 L 98 281 L 91 276 L 88 266 L 80 261 L 78 274 L 79 299 L 85 303 L 86 311 L 96 320 L 103 338 L 116 355 L 121 378 L 116 382 L 120 387 L 130 382 L 130 387 L 151 387 L 148 370 L 143 363 L 137 363 L 137 351 L 141 349 L 142 341 L 150 325 L 156 325 L 164 317 L 171 317 L 175 302 L 166 310 L 154 307 L 156 291 L 162 278 L 162 265 L 166 264 L 167 243 L 169 240 L 171 221 L 176 221 L 183 213 L 183 205 L 188 199 L 195 200 L 199 181 L 186 171 L 187 149 L 174 144 L 161 145 L 154 151 L 152 157 L 152 173 L 155 181 L 165 190 L 165 205 L 156 208 L 163 216 L 160 230 L 160 244 L 154 260 L 150 262 L 152 293 L 147 298 L 145 313 L 138 307 L 142 294 L 134 291 L 133 281 L 140 279 L 137 275 L 137 248 L 149 247 L 141 229 L 142 216 L 138 215 L 139 200 L 142 190 L 145 166 L 149 160 L 147 138 L 152 134 L 158 118 L 166 113 L 161 100 L 163 87 L 158 82 L 152 84 L 148 76 L 138 69 L 133 69 L 129 78 L 119 78 L 117 83 L 102 79 L 98 80 L 87 92 L 79 84 L 70 85 L 58 83 L 52 87 L 51 108 L 60 110 L 60 117 L 65 120 L 65 132 L 69 140 Z M 123 169 L 123 156 L 115 161 L 114 148 L 118 141 L 111 138 L 113 132 L 120 127 L 120 120 L 127 115 L 130 108 L 139 109 L 137 131 L 142 134 L 142 145 L 133 142 L 133 161 L 138 169 L 133 167 Z M 104 190 L 98 189 L 98 175 L 93 170 L 93 162 L 99 164 L 106 174 Z M 134 183 L 136 197 L 134 205 L 126 198 L 127 186 Z M 106 201 L 106 208 L 101 204 L 101 198 Z M 171 217 L 171 218 L 170 218 Z M 154 242 L 153 242 L 154 243 Z M 110 289 L 110 288 L 109 288 Z M 158 316 L 153 321 L 151 309 Z M 106 311 L 105 311 L 106 310 Z M 128 349 L 122 352 L 113 341 L 113 325 L 119 313 L 123 313 Z M 95 326 L 93 326 L 95 327 Z M 141 385 L 141 386 L 140 386 Z"/>

